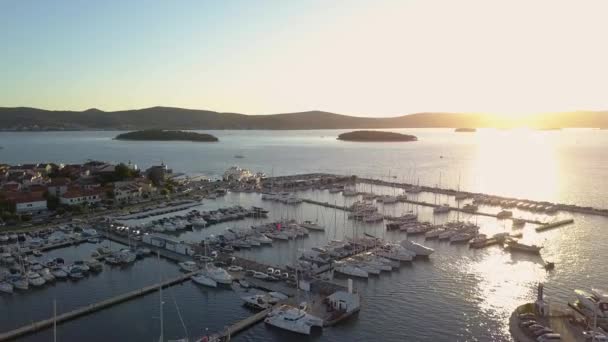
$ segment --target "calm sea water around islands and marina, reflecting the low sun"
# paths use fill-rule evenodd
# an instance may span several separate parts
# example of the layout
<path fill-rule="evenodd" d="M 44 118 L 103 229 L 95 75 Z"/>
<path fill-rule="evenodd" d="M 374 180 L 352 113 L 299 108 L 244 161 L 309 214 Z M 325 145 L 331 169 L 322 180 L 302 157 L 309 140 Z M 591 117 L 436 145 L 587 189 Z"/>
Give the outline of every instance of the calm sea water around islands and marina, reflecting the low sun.
<path fill-rule="evenodd" d="M 326 172 L 368 178 L 450 187 L 472 192 L 517 198 L 608 207 L 608 131 L 564 129 L 481 129 L 456 133 L 449 129 L 399 129 L 413 134 L 416 142 L 362 143 L 336 140 L 346 130 L 313 131 L 205 131 L 217 136 L 216 143 L 141 142 L 114 140 L 121 132 L 2 132 L 0 162 L 82 163 L 89 159 L 131 162 L 141 169 L 165 163 L 174 172 L 221 177 L 233 165 L 268 175 Z M 243 158 L 235 158 L 241 155 Z M 383 186 L 359 184 L 361 191 L 398 194 Z M 355 199 L 321 190 L 298 196 L 348 205 Z M 422 193 L 419 200 L 454 203 L 454 198 Z M 372 234 L 398 241 L 407 236 L 386 232 L 382 224 L 361 224 L 344 213 L 303 203 L 286 206 L 261 200 L 259 194 L 229 193 L 205 200 L 201 210 L 229 205 L 263 206 L 270 218 L 319 220 L 325 232 L 312 233 L 301 241 L 275 242 L 272 247 L 242 251 L 242 256 L 270 265 L 293 262 L 299 250 L 323 245 L 331 239 Z M 380 205 L 386 214 L 413 211 L 421 220 L 442 223 L 450 220 L 476 222 L 482 233 L 512 231 L 510 221 L 476 215 L 450 213 L 434 216 L 429 208 L 410 204 Z M 480 211 L 497 212 L 482 206 Z M 514 209 L 514 216 L 552 221 L 573 218 L 574 224 L 541 233 L 528 224 L 524 241 L 543 245 L 541 257 L 511 254 L 498 247 L 481 250 L 466 245 L 424 241 L 435 249 L 428 260 L 403 265 L 397 272 L 367 280 L 355 280 L 363 296 L 358 316 L 327 328 L 319 336 L 296 336 L 263 323 L 233 336 L 234 341 L 510 341 L 508 317 L 520 304 L 533 301 L 538 283 L 545 284 L 550 302 L 565 305 L 574 300 L 577 288 L 608 287 L 608 218 L 558 212 L 555 215 Z M 229 227 L 247 227 L 259 221 L 247 219 L 205 229 L 184 231 L 175 238 L 198 242 L 221 234 Z M 122 246 L 108 241 L 112 249 Z M 47 253 L 43 259 L 60 256 L 84 259 L 99 247 L 81 244 Z M 556 267 L 546 271 L 544 261 Z M 147 258 L 128 268 L 104 266 L 98 275 L 77 282 L 57 282 L 25 293 L 0 295 L 0 331 L 7 331 L 153 284 L 179 274 L 166 260 Z M 336 279 L 345 282 L 345 279 Z M 222 330 L 252 312 L 242 306 L 242 289 L 207 289 L 191 282 L 163 291 L 166 339 L 194 339 Z M 158 293 L 61 324 L 58 341 L 158 341 L 161 300 Z M 21 338 L 51 341 L 51 329 Z"/>

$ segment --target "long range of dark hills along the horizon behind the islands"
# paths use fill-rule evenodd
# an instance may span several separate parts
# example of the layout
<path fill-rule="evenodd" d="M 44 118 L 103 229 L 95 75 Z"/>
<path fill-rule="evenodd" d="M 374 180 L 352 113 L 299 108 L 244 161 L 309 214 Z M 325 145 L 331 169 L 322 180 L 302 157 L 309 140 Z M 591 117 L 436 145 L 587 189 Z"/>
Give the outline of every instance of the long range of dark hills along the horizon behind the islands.
<path fill-rule="evenodd" d="M 523 119 L 522 119 L 523 120 Z M 539 114 L 522 120 L 506 120 L 484 114 L 417 113 L 398 117 L 369 118 L 322 111 L 288 114 L 245 115 L 170 107 L 105 112 L 49 111 L 36 108 L 0 107 L 0 129 L 359 129 L 408 127 L 607 127 L 608 112 Z"/>

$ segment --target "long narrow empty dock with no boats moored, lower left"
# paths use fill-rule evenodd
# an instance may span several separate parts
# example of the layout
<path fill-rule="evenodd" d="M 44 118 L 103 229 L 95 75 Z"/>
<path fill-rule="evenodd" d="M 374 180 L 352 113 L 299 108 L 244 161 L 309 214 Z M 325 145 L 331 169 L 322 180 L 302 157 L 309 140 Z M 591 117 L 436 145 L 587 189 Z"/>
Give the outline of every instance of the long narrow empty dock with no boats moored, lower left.
<path fill-rule="evenodd" d="M 192 275 L 194 275 L 194 273 L 180 275 L 179 277 L 166 280 L 162 283 L 146 286 L 146 287 L 143 287 L 143 288 L 140 288 L 137 290 L 133 290 L 131 292 L 127 292 L 122 295 L 118 295 L 118 296 L 115 296 L 115 297 L 112 297 L 112 298 L 109 298 L 106 300 L 102 300 L 101 302 L 97 302 L 97 303 L 89 304 L 84 307 L 80 307 L 78 309 L 57 315 L 57 317 L 55 317 L 55 318 L 51 317 L 51 318 L 43 319 L 41 321 L 22 326 L 20 328 L 1 333 L 0 341 L 14 340 L 18 337 L 25 336 L 27 334 L 31 334 L 36 331 L 52 327 L 55 322 L 57 324 L 61 324 L 63 322 L 67 322 L 67 321 L 73 320 L 75 318 L 103 310 L 105 308 L 114 306 L 116 304 L 120 304 L 122 302 L 126 302 L 128 300 L 144 296 L 148 293 L 158 291 L 160 286 L 162 286 L 163 288 L 166 288 L 166 287 L 169 287 L 169 286 L 172 286 L 175 284 L 182 283 L 186 280 L 189 280 Z"/>

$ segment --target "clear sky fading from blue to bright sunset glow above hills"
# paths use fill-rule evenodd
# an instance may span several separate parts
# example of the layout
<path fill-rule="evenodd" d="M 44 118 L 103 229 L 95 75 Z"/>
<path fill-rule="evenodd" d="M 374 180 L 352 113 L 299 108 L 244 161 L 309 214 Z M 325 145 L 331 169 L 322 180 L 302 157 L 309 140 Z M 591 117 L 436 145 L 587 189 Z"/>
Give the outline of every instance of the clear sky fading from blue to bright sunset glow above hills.
<path fill-rule="evenodd" d="M 0 106 L 608 109 L 608 1 L 0 0 Z"/>

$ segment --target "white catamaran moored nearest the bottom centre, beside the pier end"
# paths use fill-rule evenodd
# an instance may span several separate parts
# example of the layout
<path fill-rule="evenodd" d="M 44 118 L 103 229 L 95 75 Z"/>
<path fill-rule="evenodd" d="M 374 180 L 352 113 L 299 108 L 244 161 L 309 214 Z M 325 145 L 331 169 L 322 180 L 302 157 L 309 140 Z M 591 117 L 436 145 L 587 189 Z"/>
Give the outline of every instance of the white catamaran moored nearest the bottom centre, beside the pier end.
<path fill-rule="evenodd" d="M 264 322 L 274 327 L 299 334 L 310 335 L 313 328 L 323 328 L 323 320 L 306 313 L 305 310 L 290 305 L 283 305 L 272 310 Z"/>

